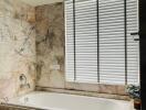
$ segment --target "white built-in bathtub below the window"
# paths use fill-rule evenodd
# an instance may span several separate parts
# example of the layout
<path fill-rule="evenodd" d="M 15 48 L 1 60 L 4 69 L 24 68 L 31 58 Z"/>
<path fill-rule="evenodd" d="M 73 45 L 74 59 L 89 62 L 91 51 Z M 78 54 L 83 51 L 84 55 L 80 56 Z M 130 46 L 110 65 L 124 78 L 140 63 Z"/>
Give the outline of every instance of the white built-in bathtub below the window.
<path fill-rule="evenodd" d="M 11 99 L 8 103 L 43 110 L 133 110 L 129 101 L 39 91 Z"/>

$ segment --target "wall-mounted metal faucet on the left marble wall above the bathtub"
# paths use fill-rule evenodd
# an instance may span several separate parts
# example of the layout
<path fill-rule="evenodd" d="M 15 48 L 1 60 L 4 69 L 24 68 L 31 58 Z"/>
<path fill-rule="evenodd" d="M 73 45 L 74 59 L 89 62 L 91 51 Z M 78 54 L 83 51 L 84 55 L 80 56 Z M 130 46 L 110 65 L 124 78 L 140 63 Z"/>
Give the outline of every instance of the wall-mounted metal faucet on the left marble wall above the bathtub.
<path fill-rule="evenodd" d="M 28 87 L 30 88 L 30 84 L 27 82 L 27 77 L 24 74 L 21 74 L 20 77 L 19 77 L 21 84 L 20 84 L 20 88 L 23 88 L 23 87 Z"/>

